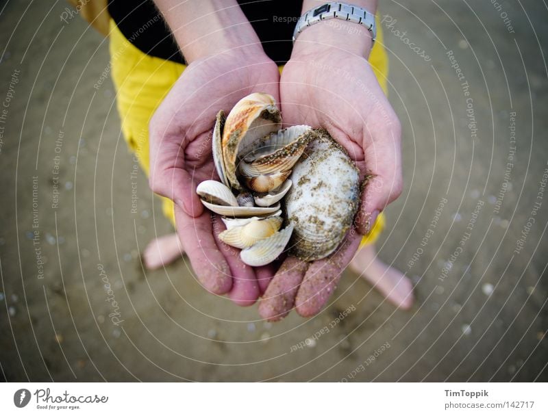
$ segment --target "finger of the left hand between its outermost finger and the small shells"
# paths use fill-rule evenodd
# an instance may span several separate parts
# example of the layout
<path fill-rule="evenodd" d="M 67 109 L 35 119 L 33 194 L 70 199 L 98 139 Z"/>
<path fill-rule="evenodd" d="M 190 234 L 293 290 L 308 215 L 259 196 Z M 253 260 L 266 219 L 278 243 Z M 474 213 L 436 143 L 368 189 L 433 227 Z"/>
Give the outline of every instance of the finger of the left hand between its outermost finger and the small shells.
<path fill-rule="evenodd" d="M 225 229 L 219 216 L 215 216 L 214 225 L 215 242 L 225 257 L 232 275 L 232 289 L 228 292 L 228 297 L 242 307 L 252 305 L 259 298 L 259 284 L 255 271 L 240 259 L 240 250 L 219 239 L 219 233 Z"/>

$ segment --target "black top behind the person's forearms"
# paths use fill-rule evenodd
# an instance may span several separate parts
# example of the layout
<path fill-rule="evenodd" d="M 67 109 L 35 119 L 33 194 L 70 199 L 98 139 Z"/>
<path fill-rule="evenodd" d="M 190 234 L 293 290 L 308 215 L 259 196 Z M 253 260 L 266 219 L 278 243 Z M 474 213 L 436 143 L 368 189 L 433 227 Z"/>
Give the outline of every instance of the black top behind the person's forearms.
<path fill-rule="evenodd" d="M 291 55 L 293 29 L 302 1 L 238 0 L 271 60 L 285 64 Z M 108 0 L 108 11 L 122 34 L 147 55 L 184 63 L 164 18 L 152 0 Z"/>

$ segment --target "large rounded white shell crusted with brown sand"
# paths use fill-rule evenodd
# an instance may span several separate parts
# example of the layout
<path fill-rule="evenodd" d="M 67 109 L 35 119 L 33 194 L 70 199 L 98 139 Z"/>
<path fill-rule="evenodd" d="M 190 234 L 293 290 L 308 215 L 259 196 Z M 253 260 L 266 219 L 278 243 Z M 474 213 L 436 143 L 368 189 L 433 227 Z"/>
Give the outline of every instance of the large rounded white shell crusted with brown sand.
<path fill-rule="evenodd" d="M 358 211 L 359 172 L 326 131 L 293 167 L 286 195 L 289 224 L 295 226 L 292 254 L 306 261 L 330 255 L 345 237 Z"/>

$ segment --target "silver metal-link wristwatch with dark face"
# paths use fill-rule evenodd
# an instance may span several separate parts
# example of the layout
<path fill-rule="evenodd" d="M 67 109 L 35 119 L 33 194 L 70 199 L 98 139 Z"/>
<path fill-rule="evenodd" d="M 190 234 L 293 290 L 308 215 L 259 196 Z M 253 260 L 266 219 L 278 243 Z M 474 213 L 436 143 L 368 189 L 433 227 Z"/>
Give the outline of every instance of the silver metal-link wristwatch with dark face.
<path fill-rule="evenodd" d="M 329 1 L 324 5 L 308 10 L 305 14 L 299 17 L 295 31 L 293 31 L 293 42 L 297 39 L 297 36 L 306 27 L 312 26 L 319 21 L 326 21 L 330 18 L 340 18 L 343 21 L 350 21 L 358 23 L 366 27 L 371 32 L 371 38 L 375 42 L 377 37 L 377 27 L 375 26 L 375 15 L 369 13 L 367 10 L 358 8 L 356 5 L 349 5 L 345 3 L 337 3 L 336 1 Z"/>

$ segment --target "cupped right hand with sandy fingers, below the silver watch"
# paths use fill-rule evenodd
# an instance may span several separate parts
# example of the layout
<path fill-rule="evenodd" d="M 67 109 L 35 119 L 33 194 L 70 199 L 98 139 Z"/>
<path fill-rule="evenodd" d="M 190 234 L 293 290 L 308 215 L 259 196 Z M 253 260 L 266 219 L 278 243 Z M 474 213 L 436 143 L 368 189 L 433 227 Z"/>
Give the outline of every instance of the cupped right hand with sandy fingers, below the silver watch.
<path fill-rule="evenodd" d="M 349 233 L 328 259 L 310 265 L 286 259 L 260 304 L 260 314 L 269 320 L 284 317 L 294 305 L 300 315 L 318 313 L 358 249 L 360 234 L 367 233 L 379 212 L 401 193 L 401 127 L 364 57 L 371 39 L 337 45 L 331 37 L 329 45 L 319 44 L 315 40 L 325 30 L 322 25 L 303 31 L 301 37 L 308 31 L 309 38 L 299 45 L 299 37 L 282 73 L 284 122 L 327 129 L 356 162 L 362 179 L 369 179 L 356 218 L 358 233 Z"/>

